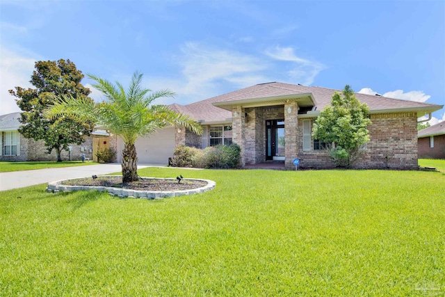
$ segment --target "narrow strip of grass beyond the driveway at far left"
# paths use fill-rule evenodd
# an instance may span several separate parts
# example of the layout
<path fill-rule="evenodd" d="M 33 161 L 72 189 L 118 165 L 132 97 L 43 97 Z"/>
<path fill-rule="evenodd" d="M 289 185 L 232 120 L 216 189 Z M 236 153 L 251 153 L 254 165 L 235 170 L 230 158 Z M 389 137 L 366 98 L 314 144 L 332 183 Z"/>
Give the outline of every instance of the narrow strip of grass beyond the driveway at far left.
<path fill-rule="evenodd" d="M 6 162 L 0 161 L 0 172 L 11 172 L 11 171 L 22 171 L 22 170 L 34 170 L 34 169 L 44 169 L 44 168 L 58 168 L 58 167 L 71 167 L 71 166 L 85 166 L 85 165 L 95 165 L 97 162 L 92 161 L 63 161 L 63 162 Z"/>

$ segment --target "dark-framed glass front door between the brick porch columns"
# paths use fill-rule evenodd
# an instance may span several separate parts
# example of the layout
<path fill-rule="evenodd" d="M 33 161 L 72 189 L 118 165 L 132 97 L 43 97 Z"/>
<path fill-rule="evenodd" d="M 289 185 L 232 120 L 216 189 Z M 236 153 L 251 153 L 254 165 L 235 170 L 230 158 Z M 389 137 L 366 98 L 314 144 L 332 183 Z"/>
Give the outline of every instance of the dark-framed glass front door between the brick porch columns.
<path fill-rule="evenodd" d="M 266 160 L 284 161 L 284 120 L 266 120 Z"/>

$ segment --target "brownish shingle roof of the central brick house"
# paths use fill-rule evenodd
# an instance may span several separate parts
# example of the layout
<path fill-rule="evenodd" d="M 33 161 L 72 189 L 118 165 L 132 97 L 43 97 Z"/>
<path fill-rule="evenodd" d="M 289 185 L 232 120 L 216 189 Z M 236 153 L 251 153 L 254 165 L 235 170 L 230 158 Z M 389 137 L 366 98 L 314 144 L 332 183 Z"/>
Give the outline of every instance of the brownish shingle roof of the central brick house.
<path fill-rule="evenodd" d="M 280 82 L 260 83 L 255 86 L 250 86 L 241 90 L 235 90 L 234 92 L 211 97 L 209 99 L 188 104 L 186 106 L 172 104 L 170 105 L 170 107 L 175 110 L 179 109 L 183 113 L 188 113 L 189 115 L 191 115 L 191 118 L 194 118 L 195 120 L 204 120 L 204 122 L 217 122 L 231 118 L 232 113 L 230 111 L 226 111 L 224 109 L 213 106 L 212 104 L 216 102 L 234 102 L 245 99 L 312 93 L 316 101 L 316 108 L 318 111 L 321 111 L 325 108 L 325 106 L 330 105 L 332 95 L 334 95 L 335 92 L 341 93 L 341 90 L 321 88 L 317 86 L 293 85 L 291 83 Z M 366 95 L 360 93 L 355 93 L 355 95 L 360 102 L 368 104 L 369 110 L 371 112 L 388 112 L 388 110 L 400 109 L 436 111 L 442 108 L 442 106 L 439 106 L 437 104 L 427 104 L 422 102 L 414 102 L 403 99 L 394 99 L 389 97 Z"/>

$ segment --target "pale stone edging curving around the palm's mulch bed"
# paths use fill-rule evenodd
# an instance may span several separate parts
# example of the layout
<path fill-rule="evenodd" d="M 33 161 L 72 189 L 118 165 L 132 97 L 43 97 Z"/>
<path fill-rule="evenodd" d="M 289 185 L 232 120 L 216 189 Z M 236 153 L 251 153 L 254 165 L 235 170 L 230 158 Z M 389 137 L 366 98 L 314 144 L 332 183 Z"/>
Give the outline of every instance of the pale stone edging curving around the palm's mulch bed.
<path fill-rule="evenodd" d="M 115 175 L 101 175 L 101 177 L 115 177 Z M 142 179 L 171 179 L 173 178 L 161 178 L 161 177 L 142 177 Z M 140 191 L 131 190 L 129 188 L 115 188 L 112 186 L 68 186 L 62 184 L 71 179 L 61 179 L 56 182 L 49 182 L 47 186 L 47 192 L 58 193 L 58 192 L 72 192 L 72 191 L 108 191 L 110 195 L 118 196 L 119 198 L 143 198 L 143 199 L 162 199 L 162 198 L 172 198 L 179 197 L 183 195 L 192 195 L 197 193 L 204 193 L 216 187 L 216 182 L 210 179 L 184 179 L 184 180 L 197 180 L 201 182 L 207 182 L 206 186 L 201 188 L 192 188 L 190 190 L 184 191 Z"/>

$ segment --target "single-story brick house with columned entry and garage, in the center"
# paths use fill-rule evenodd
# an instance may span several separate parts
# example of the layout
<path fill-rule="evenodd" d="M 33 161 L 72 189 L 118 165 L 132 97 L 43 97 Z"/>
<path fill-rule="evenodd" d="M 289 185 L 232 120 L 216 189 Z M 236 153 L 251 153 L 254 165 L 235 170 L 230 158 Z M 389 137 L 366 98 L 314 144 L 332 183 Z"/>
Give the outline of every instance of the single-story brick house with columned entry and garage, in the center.
<path fill-rule="evenodd" d="M 332 168 L 323 150 L 324 143 L 312 138 L 312 125 L 336 90 L 289 83 L 261 83 L 172 110 L 200 122 L 202 136 L 184 127 L 166 127 L 136 141 L 139 163 L 168 163 L 175 146 L 237 143 L 242 165 L 284 162 L 295 169 Z M 340 90 L 338 92 L 341 93 Z M 417 165 L 417 118 L 442 109 L 437 104 L 391 99 L 379 95 L 356 94 L 370 109 L 371 141 L 356 168 L 414 169 Z M 122 161 L 123 141 L 118 139 L 118 161 Z"/>

